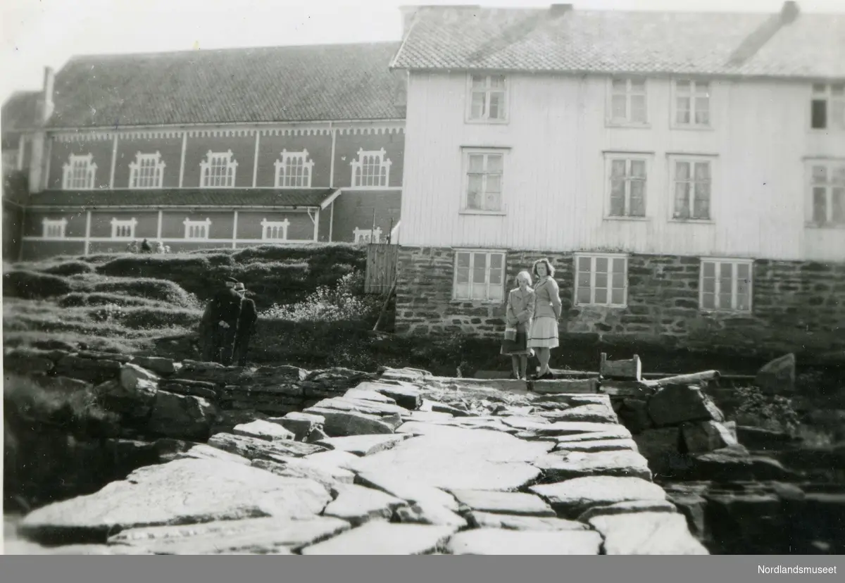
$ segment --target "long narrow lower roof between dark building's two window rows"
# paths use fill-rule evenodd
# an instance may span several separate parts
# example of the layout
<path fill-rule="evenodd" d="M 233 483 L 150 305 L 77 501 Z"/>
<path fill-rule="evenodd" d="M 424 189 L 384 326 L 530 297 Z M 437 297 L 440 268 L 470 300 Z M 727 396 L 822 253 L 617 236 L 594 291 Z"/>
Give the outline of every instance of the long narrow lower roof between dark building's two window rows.
<path fill-rule="evenodd" d="M 172 190 L 46 190 L 30 194 L 28 206 L 119 207 L 119 206 L 319 206 L 331 188 L 229 190 L 179 188 Z"/>

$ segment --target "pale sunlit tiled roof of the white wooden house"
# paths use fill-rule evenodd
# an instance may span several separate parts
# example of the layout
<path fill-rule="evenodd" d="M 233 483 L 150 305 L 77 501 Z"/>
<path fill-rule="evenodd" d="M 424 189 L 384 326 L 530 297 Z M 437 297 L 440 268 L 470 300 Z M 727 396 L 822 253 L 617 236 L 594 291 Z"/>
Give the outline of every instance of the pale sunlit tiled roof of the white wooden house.
<path fill-rule="evenodd" d="M 772 27 L 778 18 L 423 8 L 391 67 L 845 79 L 845 14 L 802 13 Z M 768 40 L 766 30 L 775 31 Z M 753 46 L 755 39 L 764 44 Z M 737 52 L 746 58 L 737 60 Z"/>

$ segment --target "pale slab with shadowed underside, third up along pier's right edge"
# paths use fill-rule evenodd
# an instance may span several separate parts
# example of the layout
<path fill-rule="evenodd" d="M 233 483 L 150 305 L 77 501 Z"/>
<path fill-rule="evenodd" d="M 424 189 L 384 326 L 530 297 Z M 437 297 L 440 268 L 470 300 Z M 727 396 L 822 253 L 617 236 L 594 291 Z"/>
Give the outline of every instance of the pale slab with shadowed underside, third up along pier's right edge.
<path fill-rule="evenodd" d="M 593 506 L 608 506 L 629 500 L 666 499 L 662 488 L 639 477 L 576 477 L 529 489 L 551 504 L 559 516 L 569 518 L 575 518 Z"/>

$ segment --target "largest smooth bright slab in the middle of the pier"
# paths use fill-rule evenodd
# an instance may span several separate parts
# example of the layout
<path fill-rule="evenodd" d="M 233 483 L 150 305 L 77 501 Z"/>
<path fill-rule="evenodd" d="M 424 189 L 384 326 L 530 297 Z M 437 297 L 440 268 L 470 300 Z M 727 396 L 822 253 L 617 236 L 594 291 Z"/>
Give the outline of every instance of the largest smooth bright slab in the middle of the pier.
<path fill-rule="evenodd" d="M 437 488 L 512 490 L 539 476 L 540 471 L 528 462 L 553 447 L 506 433 L 438 429 L 439 433 L 407 439 L 391 450 L 358 458 L 352 469 L 390 472 L 396 478 Z"/>

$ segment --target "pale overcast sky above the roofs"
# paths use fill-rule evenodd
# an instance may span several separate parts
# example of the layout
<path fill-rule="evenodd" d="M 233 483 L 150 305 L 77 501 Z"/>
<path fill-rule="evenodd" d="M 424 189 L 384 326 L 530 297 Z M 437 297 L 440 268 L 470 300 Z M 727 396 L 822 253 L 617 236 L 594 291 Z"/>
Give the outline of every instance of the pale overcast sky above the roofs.
<path fill-rule="evenodd" d="M 430 4 L 449 4 L 431 0 Z M 537 7 L 552 2 L 453 3 Z M 575 9 L 776 12 L 782 0 L 575 0 Z M 398 41 L 408 0 L 0 0 L 0 100 L 41 88 L 45 66 L 79 54 Z M 739 6 L 741 8 L 734 8 Z M 845 0 L 799 0 L 845 13 Z"/>

